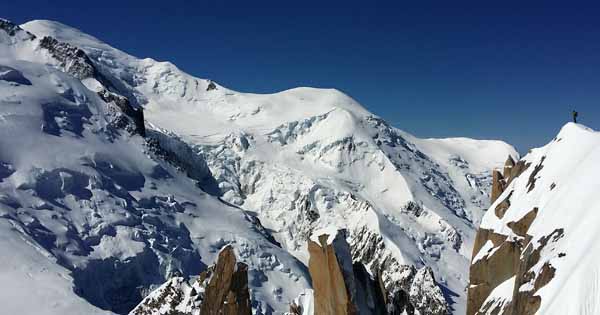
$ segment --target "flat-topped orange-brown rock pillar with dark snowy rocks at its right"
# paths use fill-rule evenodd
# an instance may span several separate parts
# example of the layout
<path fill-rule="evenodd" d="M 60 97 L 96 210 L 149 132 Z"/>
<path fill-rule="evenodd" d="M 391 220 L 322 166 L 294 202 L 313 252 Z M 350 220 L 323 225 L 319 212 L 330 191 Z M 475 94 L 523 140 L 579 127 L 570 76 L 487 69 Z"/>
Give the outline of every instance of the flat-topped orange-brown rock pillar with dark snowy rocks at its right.
<path fill-rule="evenodd" d="M 362 263 L 352 264 L 345 230 L 328 233 L 317 231 L 308 244 L 314 314 L 448 314 L 431 268 L 397 265 L 401 276 L 386 286 L 381 272 L 371 276 Z M 298 303 L 290 313 L 308 314 Z"/>

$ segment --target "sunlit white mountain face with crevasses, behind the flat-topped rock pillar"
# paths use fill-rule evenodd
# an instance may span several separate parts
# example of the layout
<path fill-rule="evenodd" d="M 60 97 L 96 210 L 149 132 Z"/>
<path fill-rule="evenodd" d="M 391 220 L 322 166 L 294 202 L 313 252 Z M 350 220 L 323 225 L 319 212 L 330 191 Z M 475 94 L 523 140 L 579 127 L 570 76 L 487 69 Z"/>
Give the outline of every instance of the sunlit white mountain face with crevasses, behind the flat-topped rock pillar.
<path fill-rule="evenodd" d="M 402 287 L 406 274 L 412 279 L 414 272 L 402 272 L 408 266 L 429 266 L 453 312 L 464 313 L 490 171 L 516 157 L 511 146 L 418 139 L 336 90 L 240 93 L 60 23 L 23 28 L 84 50 L 121 94 L 144 107 L 152 125 L 206 159 L 224 200 L 260 218 L 303 262 L 313 230 L 348 228 L 354 259 L 381 271 L 390 290 Z"/>

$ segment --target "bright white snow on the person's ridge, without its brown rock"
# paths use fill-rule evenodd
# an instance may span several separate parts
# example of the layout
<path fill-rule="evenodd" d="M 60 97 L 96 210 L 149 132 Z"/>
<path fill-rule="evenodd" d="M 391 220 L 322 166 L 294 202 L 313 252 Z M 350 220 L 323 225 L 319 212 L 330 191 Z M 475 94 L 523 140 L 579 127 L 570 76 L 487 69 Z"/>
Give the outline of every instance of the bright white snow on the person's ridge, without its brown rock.
<path fill-rule="evenodd" d="M 539 250 L 539 260 L 531 259 L 537 263 L 529 269 L 529 281 L 516 290 L 532 290 L 534 280 L 539 287 L 538 282 L 542 281 L 536 278 L 545 266 L 554 272 L 535 293 L 541 297 L 536 314 L 600 314 L 600 133 L 568 123 L 553 141 L 532 150 L 523 160 L 531 165 L 490 207 L 481 228 L 508 235 L 508 239 L 518 238 L 509 227 L 510 222 L 519 221 L 538 208 L 527 230 L 531 238 L 524 246 Z M 510 207 L 498 218 L 493 209 L 509 195 Z M 492 255 L 487 253 L 489 249 L 483 246 L 474 262 Z M 514 287 L 512 277 L 496 287 L 483 305 L 506 305 L 513 297 Z M 492 311 L 494 307 L 488 309 Z"/>

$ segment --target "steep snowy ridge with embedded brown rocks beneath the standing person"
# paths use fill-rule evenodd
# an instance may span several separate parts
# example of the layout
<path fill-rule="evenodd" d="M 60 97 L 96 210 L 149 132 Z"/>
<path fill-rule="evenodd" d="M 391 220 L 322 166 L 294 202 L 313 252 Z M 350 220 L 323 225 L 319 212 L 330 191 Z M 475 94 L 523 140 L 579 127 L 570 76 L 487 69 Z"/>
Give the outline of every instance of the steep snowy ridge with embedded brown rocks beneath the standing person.
<path fill-rule="evenodd" d="M 494 234 L 496 241 L 482 244 L 473 253 L 476 269 L 486 263 L 491 266 L 502 253 L 505 262 L 514 256 L 517 267 L 495 279 L 497 286 L 473 311 L 600 312 L 599 160 L 600 133 L 574 123 L 522 159 L 528 168 L 508 185 L 481 222 L 481 231 Z M 494 211 L 503 202 L 509 204 L 506 211 Z M 514 255 L 502 250 L 511 246 L 517 249 Z M 471 283 L 473 293 L 481 291 L 479 286 L 479 281 Z"/>

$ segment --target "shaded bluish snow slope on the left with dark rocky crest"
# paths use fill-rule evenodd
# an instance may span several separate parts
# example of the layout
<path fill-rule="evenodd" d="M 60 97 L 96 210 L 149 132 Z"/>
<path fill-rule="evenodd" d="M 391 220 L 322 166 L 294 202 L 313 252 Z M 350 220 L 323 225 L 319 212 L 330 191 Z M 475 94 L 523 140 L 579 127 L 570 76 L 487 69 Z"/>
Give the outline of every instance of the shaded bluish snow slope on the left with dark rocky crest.
<path fill-rule="evenodd" d="M 2 311 L 124 314 L 226 244 L 248 265 L 255 312 L 288 310 L 306 267 L 201 189 L 212 176 L 187 144 L 150 127 L 144 139 L 123 96 L 91 90 L 109 87 L 80 71 L 96 69 L 85 54 L 43 41 L 0 21 Z"/>

